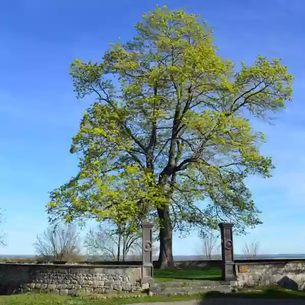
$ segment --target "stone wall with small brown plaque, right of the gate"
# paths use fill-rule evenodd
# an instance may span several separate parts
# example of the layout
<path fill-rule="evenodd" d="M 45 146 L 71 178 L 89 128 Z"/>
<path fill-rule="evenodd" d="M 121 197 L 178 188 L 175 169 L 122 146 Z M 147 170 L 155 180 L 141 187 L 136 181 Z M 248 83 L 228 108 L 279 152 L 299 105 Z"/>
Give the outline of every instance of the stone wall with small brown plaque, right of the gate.
<path fill-rule="evenodd" d="M 277 284 L 295 290 L 305 287 L 305 260 L 238 262 L 235 269 L 237 286 Z"/>

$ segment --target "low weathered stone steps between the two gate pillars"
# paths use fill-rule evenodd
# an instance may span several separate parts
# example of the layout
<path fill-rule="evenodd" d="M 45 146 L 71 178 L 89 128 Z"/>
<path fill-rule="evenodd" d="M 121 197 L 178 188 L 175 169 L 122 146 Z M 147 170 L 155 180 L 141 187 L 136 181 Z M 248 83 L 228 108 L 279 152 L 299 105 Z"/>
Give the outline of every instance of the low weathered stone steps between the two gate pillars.
<path fill-rule="evenodd" d="M 149 288 L 149 294 L 151 295 L 184 295 L 184 294 L 199 294 L 207 293 L 210 291 L 218 292 L 231 292 L 230 285 L 220 286 L 189 286 L 189 287 L 166 287 L 166 288 Z"/>

